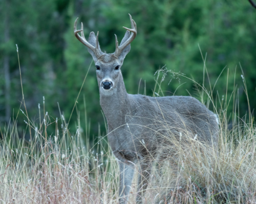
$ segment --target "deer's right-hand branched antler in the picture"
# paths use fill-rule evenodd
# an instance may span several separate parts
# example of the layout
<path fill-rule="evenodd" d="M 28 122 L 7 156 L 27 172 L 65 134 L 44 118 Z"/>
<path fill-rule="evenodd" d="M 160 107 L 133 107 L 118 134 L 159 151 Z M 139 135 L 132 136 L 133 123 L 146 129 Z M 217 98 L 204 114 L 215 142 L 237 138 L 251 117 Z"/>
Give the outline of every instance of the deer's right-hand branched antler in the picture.
<path fill-rule="evenodd" d="M 135 39 L 135 37 L 137 35 L 137 25 L 136 25 L 136 22 L 132 19 L 132 16 L 130 14 L 129 14 L 129 16 L 130 16 L 130 20 L 131 20 L 132 29 L 125 28 L 125 27 L 123 27 L 123 28 L 126 29 L 127 31 L 131 31 L 132 34 L 120 46 L 118 46 L 118 41 L 117 41 L 117 37 L 116 37 L 116 50 L 115 50 L 115 54 L 114 55 L 117 56 L 117 57 L 121 54 L 122 50 Z M 116 36 L 116 34 L 115 34 L 115 36 Z"/>

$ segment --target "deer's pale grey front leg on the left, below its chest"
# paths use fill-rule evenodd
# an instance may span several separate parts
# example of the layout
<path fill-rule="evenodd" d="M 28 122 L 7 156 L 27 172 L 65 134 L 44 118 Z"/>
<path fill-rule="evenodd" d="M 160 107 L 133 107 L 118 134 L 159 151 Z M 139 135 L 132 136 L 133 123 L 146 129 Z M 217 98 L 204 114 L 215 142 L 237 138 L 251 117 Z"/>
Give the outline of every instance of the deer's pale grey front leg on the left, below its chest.
<path fill-rule="evenodd" d="M 128 201 L 130 187 L 133 181 L 134 165 L 119 161 L 119 203 L 124 204 Z"/>

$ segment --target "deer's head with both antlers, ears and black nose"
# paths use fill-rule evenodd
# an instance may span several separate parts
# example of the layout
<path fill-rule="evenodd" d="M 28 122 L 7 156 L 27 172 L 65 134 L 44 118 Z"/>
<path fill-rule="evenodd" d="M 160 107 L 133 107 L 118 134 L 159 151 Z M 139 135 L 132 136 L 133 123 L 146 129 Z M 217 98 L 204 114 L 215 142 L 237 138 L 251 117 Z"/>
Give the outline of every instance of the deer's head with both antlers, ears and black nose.
<path fill-rule="evenodd" d="M 117 37 L 115 35 L 116 50 L 115 50 L 115 53 L 112 53 L 112 54 L 106 54 L 101 52 L 99 41 L 98 41 L 99 32 L 97 33 L 97 36 L 94 34 L 94 32 L 91 32 L 89 36 L 89 40 L 87 41 L 83 34 L 83 24 L 81 24 L 81 30 L 76 30 L 77 19 L 74 23 L 74 34 L 76 38 L 81 43 L 83 43 L 88 47 L 88 51 L 93 57 L 93 60 L 96 66 L 98 85 L 99 85 L 100 91 L 103 94 L 109 95 L 111 94 L 111 92 L 116 90 L 117 88 L 116 82 L 118 82 L 118 80 L 121 77 L 120 68 L 123 64 L 123 60 L 125 56 L 130 52 L 130 49 L 131 49 L 130 44 L 137 35 L 136 23 L 132 19 L 131 15 L 130 15 L 130 19 L 131 19 L 132 29 L 123 27 L 127 31 L 119 46 L 118 46 Z M 131 35 L 130 35 L 130 31 L 131 31 Z M 79 32 L 81 32 L 81 36 L 78 34 Z"/>

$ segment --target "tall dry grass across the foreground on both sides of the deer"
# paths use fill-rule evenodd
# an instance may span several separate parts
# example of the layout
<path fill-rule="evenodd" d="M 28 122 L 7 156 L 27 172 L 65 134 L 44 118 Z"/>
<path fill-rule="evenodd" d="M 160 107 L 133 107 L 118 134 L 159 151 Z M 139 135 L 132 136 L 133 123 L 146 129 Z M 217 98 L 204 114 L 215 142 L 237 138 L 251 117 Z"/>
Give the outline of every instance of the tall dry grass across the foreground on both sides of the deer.
<path fill-rule="evenodd" d="M 206 67 L 204 70 L 207 72 Z M 214 104 L 219 113 L 218 151 L 186 135 L 182 135 L 188 141 L 185 143 L 166 136 L 172 146 L 162 148 L 173 148 L 175 152 L 167 159 L 153 161 L 144 203 L 256 203 L 253 117 L 238 117 L 239 92 L 235 86 L 233 104 L 229 98 L 218 95 L 214 99 L 214 87 L 209 92 L 204 85 L 199 89 L 202 102 L 206 101 L 207 106 Z M 157 94 L 160 91 L 159 86 Z M 227 115 L 230 104 L 232 117 Z M 62 114 L 60 119 L 53 119 L 45 106 L 44 110 L 38 108 L 44 117 L 37 123 L 29 119 L 27 111 L 21 113 L 27 123 L 24 135 L 18 134 L 15 118 L 1 130 L 1 202 L 117 203 L 119 170 L 105 136 L 99 135 L 93 144 L 89 141 L 88 126 L 82 131 L 80 115 L 77 131 L 72 134 Z M 53 125 L 55 133 L 49 133 L 48 128 Z M 25 140 L 26 133 L 30 139 Z M 136 202 L 136 192 L 140 191 L 136 177 L 129 203 Z"/>

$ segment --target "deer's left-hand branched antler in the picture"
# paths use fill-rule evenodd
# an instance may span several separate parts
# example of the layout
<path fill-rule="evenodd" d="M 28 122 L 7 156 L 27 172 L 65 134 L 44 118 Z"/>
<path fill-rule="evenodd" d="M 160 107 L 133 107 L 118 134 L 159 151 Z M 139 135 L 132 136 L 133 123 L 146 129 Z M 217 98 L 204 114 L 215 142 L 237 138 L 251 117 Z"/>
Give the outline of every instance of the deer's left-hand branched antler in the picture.
<path fill-rule="evenodd" d="M 78 18 L 77 18 L 78 19 Z M 94 54 L 99 57 L 101 54 L 99 52 L 99 40 L 98 40 L 98 36 L 99 36 L 99 32 L 97 33 L 96 36 L 96 47 L 94 47 L 93 45 L 91 45 L 86 38 L 84 37 L 84 33 L 83 33 L 83 24 L 81 23 L 81 30 L 76 30 L 76 24 L 77 24 L 77 19 L 75 20 L 74 23 L 74 34 L 76 36 L 76 38 L 83 43 L 84 45 L 86 45 L 88 48 L 90 48 L 91 50 L 93 50 Z M 78 34 L 79 32 L 81 32 L 81 36 Z"/>

